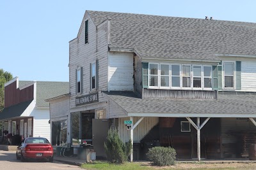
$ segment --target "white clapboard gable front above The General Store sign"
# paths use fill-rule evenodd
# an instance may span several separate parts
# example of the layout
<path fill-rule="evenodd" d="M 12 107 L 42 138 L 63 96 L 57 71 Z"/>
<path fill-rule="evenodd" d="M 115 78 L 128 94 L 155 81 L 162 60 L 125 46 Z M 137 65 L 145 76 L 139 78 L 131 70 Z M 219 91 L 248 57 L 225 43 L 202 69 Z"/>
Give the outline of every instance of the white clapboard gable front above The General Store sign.
<path fill-rule="evenodd" d="M 88 20 L 88 43 L 84 44 L 84 21 Z M 97 28 L 97 29 L 96 29 Z M 70 109 L 76 108 L 76 69 L 83 67 L 83 94 L 90 94 L 90 64 L 99 60 L 99 90 L 108 90 L 108 21 L 94 25 L 86 14 L 81 32 L 70 41 L 69 82 Z"/>

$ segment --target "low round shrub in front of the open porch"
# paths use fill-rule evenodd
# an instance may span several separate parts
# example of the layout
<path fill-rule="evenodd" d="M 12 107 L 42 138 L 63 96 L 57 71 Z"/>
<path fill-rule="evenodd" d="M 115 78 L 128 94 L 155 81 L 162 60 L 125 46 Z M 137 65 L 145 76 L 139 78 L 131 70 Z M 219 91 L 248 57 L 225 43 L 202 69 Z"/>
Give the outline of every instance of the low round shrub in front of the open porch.
<path fill-rule="evenodd" d="M 155 166 L 172 166 L 175 164 L 176 151 L 171 147 L 156 146 L 148 150 L 147 157 Z"/>

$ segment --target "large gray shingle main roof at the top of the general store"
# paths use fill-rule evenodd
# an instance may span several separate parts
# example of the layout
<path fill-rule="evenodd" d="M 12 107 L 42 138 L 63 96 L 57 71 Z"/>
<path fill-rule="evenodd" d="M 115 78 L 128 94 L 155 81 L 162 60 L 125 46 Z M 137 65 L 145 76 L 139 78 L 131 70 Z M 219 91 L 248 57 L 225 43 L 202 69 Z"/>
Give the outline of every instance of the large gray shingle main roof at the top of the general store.
<path fill-rule="evenodd" d="M 255 23 L 87 12 L 95 25 L 111 18 L 110 48 L 132 48 L 141 57 L 220 60 L 215 54 L 256 55 Z"/>

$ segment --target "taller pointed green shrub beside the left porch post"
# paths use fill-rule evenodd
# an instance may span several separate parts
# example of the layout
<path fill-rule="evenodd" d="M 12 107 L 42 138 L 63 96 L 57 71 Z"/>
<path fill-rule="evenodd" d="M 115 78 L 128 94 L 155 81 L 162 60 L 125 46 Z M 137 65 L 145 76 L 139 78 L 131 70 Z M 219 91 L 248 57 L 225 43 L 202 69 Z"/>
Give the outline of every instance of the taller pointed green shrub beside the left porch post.
<path fill-rule="evenodd" d="M 116 129 L 109 129 L 108 137 L 104 143 L 107 160 L 112 163 L 124 163 L 131 154 L 131 141 L 123 143 Z"/>

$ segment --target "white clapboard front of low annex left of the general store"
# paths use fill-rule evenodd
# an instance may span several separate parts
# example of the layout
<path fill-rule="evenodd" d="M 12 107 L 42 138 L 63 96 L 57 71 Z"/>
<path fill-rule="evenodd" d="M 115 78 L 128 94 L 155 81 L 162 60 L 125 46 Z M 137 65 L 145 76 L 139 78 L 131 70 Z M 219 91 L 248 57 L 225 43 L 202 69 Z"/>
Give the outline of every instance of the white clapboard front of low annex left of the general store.
<path fill-rule="evenodd" d="M 62 97 L 60 99 L 54 99 L 50 101 L 50 117 L 51 122 L 58 120 L 67 120 L 67 134 L 71 134 L 69 97 Z M 70 141 L 70 135 L 67 135 L 67 142 L 69 143 Z"/>

